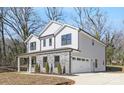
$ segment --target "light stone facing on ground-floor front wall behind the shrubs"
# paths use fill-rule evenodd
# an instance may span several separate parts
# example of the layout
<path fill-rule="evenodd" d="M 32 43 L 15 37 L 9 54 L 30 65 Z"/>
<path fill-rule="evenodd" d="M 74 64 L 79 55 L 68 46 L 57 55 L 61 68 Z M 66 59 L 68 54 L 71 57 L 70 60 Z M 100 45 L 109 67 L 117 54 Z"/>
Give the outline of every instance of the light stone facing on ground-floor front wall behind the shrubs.
<path fill-rule="evenodd" d="M 54 56 L 60 56 L 60 64 L 63 70 L 65 66 L 66 73 L 69 73 L 69 52 L 60 52 L 60 53 L 49 53 L 37 56 L 37 63 L 40 64 L 41 72 L 45 72 L 43 68 L 43 57 L 47 56 L 49 67 L 53 66 L 53 73 L 58 73 L 57 68 L 54 68 Z"/>

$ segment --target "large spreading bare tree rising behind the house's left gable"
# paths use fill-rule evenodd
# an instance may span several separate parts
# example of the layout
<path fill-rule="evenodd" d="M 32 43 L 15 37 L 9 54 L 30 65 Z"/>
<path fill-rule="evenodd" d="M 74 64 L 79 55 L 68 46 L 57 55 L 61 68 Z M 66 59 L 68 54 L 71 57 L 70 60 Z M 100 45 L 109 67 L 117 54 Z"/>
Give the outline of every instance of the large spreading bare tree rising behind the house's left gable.
<path fill-rule="evenodd" d="M 41 28 L 39 17 L 36 16 L 33 8 L 30 7 L 9 8 L 7 17 L 4 20 L 11 31 L 14 31 L 20 37 L 22 42 L 24 42 L 31 33 L 39 32 Z M 25 52 L 26 46 L 24 43 L 23 46 Z"/>

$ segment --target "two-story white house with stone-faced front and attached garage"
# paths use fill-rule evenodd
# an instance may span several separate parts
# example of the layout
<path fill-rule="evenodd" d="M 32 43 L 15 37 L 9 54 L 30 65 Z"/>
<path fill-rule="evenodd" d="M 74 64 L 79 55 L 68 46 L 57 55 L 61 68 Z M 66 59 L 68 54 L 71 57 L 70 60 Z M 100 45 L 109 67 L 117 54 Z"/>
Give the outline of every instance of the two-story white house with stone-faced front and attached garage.
<path fill-rule="evenodd" d="M 105 71 L 105 44 L 87 32 L 68 24 L 50 21 L 38 36 L 31 34 L 25 41 L 27 53 L 18 56 L 28 58 L 28 71 L 34 71 L 34 65 L 40 65 L 45 72 L 48 62 L 57 73 L 60 63 L 65 73 Z"/>

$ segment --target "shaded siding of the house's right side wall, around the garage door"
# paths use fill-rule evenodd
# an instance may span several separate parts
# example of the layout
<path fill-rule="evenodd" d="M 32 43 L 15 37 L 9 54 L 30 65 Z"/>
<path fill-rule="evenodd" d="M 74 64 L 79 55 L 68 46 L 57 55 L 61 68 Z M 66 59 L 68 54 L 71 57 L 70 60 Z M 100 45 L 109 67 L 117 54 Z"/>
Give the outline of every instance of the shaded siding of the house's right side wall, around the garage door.
<path fill-rule="evenodd" d="M 105 70 L 105 46 L 94 40 L 94 46 L 92 46 L 92 39 L 79 32 L 79 50 L 80 52 L 72 52 L 72 56 L 89 58 L 91 64 L 91 70 L 104 71 Z M 92 61 L 91 61 L 92 59 Z M 98 60 L 98 68 L 93 66 L 95 59 Z M 104 61 L 104 65 L 103 65 Z M 85 66 L 85 65 L 84 65 Z M 78 68 L 78 66 L 76 66 Z M 88 69 L 87 69 L 88 71 Z M 83 72 L 83 71 L 82 71 Z"/>

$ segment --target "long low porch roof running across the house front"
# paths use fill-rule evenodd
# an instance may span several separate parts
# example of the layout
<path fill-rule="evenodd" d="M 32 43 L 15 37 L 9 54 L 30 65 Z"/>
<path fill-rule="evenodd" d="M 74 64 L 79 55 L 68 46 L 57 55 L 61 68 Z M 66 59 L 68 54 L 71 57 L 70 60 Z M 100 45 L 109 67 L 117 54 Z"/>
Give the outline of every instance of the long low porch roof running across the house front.
<path fill-rule="evenodd" d="M 36 55 L 42 55 L 42 54 L 51 54 L 51 53 L 59 53 L 59 52 L 70 52 L 72 50 L 76 50 L 76 49 L 73 49 L 73 48 L 58 48 L 58 49 L 51 49 L 51 50 L 42 50 L 42 51 L 37 51 L 37 52 L 32 52 L 32 53 L 19 54 L 17 57 L 27 58 L 29 56 L 36 56 Z M 76 51 L 79 51 L 79 50 L 76 50 Z"/>

